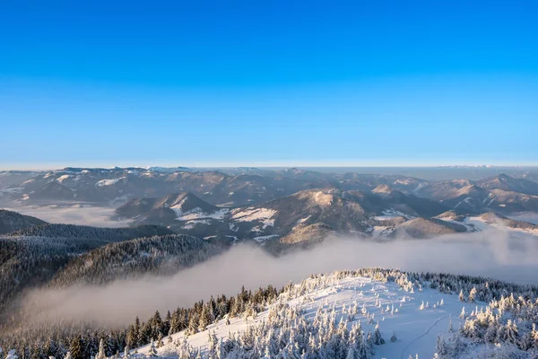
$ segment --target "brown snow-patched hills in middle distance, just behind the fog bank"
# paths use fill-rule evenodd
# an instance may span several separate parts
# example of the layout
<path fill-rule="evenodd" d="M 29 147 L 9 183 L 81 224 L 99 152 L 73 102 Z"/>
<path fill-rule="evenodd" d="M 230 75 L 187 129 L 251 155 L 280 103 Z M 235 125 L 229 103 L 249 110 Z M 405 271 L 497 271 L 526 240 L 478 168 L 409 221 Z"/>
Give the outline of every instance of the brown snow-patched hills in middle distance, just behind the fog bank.
<path fill-rule="evenodd" d="M 308 189 L 256 206 L 235 208 L 212 206 L 192 193 L 181 193 L 133 199 L 116 213 L 132 218 L 134 223 L 160 224 L 212 241 L 256 241 L 280 251 L 297 243 L 316 243 L 330 235 L 429 238 L 485 229 L 487 225 L 466 225 L 464 218 L 480 215 L 474 210 L 465 212 L 463 207 L 456 206 L 449 212 L 450 207 L 443 203 L 381 185 L 368 192 Z M 454 215 L 447 216 L 451 213 Z M 518 226 L 530 228 L 528 223 Z"/>

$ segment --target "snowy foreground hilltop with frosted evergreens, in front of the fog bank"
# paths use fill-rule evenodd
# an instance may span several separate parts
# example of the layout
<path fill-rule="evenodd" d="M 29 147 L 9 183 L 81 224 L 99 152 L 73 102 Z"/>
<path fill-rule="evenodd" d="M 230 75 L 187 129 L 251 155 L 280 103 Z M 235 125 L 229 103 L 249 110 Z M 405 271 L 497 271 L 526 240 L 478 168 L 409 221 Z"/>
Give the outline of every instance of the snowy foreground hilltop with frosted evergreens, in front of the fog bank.
<path fill-rule="evenodd" d="M 458 295 L 448 282 L 435 275 L 425 280 L 397 271 L 383 276 L 376 270 L 313 276 L 288 286 L 262 311 L 250 308 L 242 315 L 226 314 L 199 328 L 159 337 L 126 351 L 124 357 L 531 358 L 538 354 L 538 331 L 531 325 L 538 311 L 532 301 L 513 295 L 508 300 L 487 300 L 499 293 L 480 291 L 488 286 L 485 280 Z M 513 311 L 516 301 L 532 313 Z M 492 338 L 490 331 L 495 331 Z"/>

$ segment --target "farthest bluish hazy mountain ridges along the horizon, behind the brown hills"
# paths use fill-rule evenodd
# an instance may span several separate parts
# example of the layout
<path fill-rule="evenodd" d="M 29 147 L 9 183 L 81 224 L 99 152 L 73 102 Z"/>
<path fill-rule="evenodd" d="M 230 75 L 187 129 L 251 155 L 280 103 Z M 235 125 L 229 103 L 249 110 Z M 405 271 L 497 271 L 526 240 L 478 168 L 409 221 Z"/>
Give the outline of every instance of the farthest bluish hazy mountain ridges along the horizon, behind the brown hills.
<path fill-rule="evenodd" d="M 499 174 L 485 180 L 432 181 L 392 174 L 329 173 L 295 168 L 65 168 L 22 174 L 2 172 L 0 201 L 10 207 L 73 203 L 121 206 L 134 198 L 190 192 L 213 206 L 237 207 L 258 206 L 302 190 L 328 188 L 348 192 L 350 196 L 359 192 L 357 197 L 363 197 L 360 205 L 369 212 L 379 212 L 376 207 L 386 207 L 387 202 L 407 215 L 424 218 L 451 209 L 473 215 L 538 212 L 538 183 L 532 180 L 533 172 L 511 173 L 519 178 Z M 21 181 L 14 180 L 17 178 Z M 165 215 L 167 211 L 161 212 Z"/>

